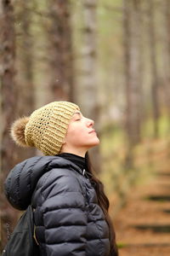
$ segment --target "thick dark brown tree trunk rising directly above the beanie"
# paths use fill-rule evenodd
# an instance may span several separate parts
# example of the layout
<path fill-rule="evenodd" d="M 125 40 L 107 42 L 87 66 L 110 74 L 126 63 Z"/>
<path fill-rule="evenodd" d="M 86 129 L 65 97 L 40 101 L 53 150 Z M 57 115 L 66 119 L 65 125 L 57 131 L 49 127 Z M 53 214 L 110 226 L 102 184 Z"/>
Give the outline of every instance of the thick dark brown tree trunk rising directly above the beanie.
<path fill-rule="evenodd" d="M 50 100 L 74 101 L 70 1 L 48 1 Z"/>

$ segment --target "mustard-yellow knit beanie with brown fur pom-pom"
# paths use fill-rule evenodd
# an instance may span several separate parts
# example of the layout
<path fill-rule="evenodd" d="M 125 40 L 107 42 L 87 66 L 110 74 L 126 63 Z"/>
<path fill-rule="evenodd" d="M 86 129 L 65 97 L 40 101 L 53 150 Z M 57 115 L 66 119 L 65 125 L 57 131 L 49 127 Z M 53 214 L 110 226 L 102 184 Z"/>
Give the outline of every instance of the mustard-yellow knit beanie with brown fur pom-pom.
<path fill-rule="evenodd" d="M 80 108 L 72 102 L 51 102 L 30 117 L 17 119 L 11 126 L 11 137 L 21 147 L 35 147 L 45 155 L 59 154 L 76 110 Z"/>

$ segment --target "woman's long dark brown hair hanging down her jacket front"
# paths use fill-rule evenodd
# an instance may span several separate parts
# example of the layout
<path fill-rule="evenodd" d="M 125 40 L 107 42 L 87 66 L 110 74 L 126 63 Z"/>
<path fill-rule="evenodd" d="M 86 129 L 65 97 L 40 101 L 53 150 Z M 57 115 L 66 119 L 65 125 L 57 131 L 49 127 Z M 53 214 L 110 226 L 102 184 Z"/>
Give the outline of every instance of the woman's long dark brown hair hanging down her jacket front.
<path fill-rule="evenodd" d="M 91 165 L 88 152 L 85 155 L 85 163 L 86 163 L 86 171 L 91 174 L 90 181 L 91 181 L 91 183 L 94 184 L 94 189 L 95 189 L 96 195 L 98 197 L 99 207 L 102 208 L 102 210 L 105 214 L 105 220 L 109 226 L 109 238 L 110 238 L 110 247 L 111 247 L 110 256 L 118 256 L 118 250 L 116 247 L 115 230 L 114 230 L 113 224 L 111 223 L 111 218 L 108 213 L 110 203 L 109 203 L 107 196 L 105 195 L 103 183 L 101 183 L 101 181 L 94 175 L 94 170 Z"/>

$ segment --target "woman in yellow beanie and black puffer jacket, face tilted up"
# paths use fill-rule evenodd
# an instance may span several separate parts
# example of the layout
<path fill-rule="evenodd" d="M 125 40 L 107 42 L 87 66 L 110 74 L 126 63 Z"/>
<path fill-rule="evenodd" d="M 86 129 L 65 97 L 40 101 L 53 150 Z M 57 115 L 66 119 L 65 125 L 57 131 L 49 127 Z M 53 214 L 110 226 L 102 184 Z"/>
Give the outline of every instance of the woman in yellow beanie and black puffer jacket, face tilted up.
<path fill-rule="evenodd" d="M 74 103 L 51 102 L 16 120 L 11 135 L 44 154 L 15 166 L 5 182 L 13 207 L 34 208 L 40 255 L 118 255 L 109 201 L 88 163 L 88 148 L 99 144 L 94 121 Z"/>

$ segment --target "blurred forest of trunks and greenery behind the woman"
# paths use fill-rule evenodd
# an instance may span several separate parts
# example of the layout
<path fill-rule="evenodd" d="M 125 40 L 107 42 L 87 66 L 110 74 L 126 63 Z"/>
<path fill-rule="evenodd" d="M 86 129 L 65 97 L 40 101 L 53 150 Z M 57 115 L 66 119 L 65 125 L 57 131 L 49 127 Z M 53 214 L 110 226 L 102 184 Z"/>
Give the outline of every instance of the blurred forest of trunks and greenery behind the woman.
<path fill-rule="evenodd" d="M 91 157 L 111 216 L 168 159 L 170 1 L 0 0 L 0 24 L 2 250 L 20 215 L 4 179 L 40 154 L 14 145 L 14 119 L 58 100 L 94 119 L 101 143 Z"/>

